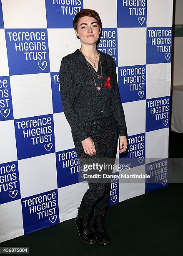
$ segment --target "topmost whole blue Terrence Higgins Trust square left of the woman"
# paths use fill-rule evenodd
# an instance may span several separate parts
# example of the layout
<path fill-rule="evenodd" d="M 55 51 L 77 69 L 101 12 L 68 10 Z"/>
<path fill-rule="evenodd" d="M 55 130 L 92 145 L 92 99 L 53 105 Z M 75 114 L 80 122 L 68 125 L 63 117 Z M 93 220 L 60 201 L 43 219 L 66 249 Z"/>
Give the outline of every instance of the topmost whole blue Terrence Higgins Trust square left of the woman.
<path fill-rule="evenodd" d="M 50 72 L 47 29 L 5 29 L 10 75 Z"/>

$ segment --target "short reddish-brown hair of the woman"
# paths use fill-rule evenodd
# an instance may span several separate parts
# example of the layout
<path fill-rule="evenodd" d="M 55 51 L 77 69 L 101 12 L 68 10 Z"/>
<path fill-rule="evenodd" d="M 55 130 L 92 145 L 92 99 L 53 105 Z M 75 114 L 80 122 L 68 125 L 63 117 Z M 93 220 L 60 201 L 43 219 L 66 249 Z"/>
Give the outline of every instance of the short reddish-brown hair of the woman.
<path fill-rule="evenodd" d="M 82 18 L 84 16 L 93 17 L 95 20 L 97 20 L 98 25 L 101 28 L 101 31 L 100 31 L 100 36 L 101 36 L 101 33 L 102 33 L 102 22 L 100 20 L 99 14 L 95 10 L 92 10 L 92 9 L 82 9 L 82 10 L 80 10 L 80 12 L 78 12 L 75 15 L 75 18 L 73 20 L 73 27 L 74 27 L 74 29 L 78 32 L 77 27 L 78 27 L 79 20 L 80 20 L 80 18 Z"/>

